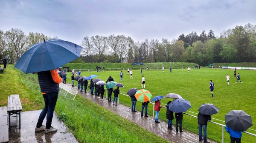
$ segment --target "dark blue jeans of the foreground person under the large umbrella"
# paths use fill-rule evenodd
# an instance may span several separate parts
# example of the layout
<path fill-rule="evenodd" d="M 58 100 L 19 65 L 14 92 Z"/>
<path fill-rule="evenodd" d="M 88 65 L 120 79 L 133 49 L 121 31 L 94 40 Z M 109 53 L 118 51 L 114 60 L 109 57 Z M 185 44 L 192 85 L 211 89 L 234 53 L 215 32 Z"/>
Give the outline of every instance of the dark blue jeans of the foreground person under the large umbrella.
<path fill-rule="evenodd" d="M 52 125 L 53 111 L 58 100 L 58 92 L 43 94 L 45 107 L 39 115 L 37 128 L 40 128 L 43 124 L 44 118 L 46 117 L 46 129 L 50 129 Z"/>

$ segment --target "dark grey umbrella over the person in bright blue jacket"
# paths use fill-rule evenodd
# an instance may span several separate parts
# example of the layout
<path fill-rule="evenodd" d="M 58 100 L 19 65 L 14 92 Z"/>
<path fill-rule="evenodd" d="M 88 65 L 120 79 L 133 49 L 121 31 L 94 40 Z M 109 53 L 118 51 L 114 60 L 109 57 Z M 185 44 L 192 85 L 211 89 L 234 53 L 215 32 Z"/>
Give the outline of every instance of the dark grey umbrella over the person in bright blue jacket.
<path fill-rule="evenodd" d="M 252 117 L 243 110 L 231 110 L 225 115 L 225 123 L 234 131 L 246 131 L 253 126 Z"/>

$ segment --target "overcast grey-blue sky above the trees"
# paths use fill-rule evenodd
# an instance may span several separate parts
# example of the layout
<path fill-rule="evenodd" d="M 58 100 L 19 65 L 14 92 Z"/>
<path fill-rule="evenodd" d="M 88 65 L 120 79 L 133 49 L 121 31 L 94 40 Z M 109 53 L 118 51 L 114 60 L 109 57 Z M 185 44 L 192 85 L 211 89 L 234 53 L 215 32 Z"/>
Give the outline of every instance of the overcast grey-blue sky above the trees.
<path fill-rule="evenodd" d="M 39 32 L 81 45 L 85 36 L 177 39 L 256 24 L 256 0 L 0 0 L 0 30 Z"/>

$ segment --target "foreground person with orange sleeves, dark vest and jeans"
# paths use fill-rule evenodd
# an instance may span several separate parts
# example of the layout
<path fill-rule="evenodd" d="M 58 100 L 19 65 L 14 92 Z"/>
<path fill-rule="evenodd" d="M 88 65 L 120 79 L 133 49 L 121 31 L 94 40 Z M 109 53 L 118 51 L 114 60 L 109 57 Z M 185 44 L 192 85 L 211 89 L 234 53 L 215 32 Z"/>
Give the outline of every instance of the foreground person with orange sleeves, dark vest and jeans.
<path fill-rule="evenodd" d="M 57 69 L 38 72 L 38 82 L 44 98 L 45 107 L 39 115 L 35 132 L 44 131 L 44 133 L 50 133 L 57 131 L 51 125 L 53 112 L 58 100 L 58 92 L 60 90 L 59 83 L 61 81 L 62 79 L 58 76 Z M 46 126 L 42 125 L 45 116 L 47 116 Z"/>

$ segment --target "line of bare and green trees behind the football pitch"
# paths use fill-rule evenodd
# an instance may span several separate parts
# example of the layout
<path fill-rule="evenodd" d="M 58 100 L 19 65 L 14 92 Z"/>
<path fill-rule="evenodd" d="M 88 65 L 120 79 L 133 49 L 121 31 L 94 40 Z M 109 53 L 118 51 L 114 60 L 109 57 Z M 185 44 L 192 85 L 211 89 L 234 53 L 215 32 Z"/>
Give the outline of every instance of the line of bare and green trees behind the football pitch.
<path fill-rule="evenodd" d="M 57 38 L 12 28 L 0 30 L 0 58 L 16 62 L 33 44 Z M 212 30 L 195 31 L 177 39 L 145 39 L 135 42 L 125 35 L 85 36 L 79 59 L 73 62 L 256 62 L 256 25 L 250 23 L 224 30 L 216 37 Z"/>

